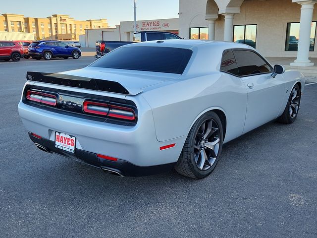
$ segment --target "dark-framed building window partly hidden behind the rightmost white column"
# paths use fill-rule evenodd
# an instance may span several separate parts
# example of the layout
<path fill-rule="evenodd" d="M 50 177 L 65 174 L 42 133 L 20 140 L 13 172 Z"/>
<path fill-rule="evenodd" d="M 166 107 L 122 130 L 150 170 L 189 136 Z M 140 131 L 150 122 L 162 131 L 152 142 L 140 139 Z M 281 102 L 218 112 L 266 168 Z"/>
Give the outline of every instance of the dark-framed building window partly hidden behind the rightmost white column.
<path fill-rule="evenodd" d="M 299 22 L 287 23 L 285 51 L 297 51 L 299 41 Z M 310 51 L 315 48 L 316 21 L 312 22 Z"/>

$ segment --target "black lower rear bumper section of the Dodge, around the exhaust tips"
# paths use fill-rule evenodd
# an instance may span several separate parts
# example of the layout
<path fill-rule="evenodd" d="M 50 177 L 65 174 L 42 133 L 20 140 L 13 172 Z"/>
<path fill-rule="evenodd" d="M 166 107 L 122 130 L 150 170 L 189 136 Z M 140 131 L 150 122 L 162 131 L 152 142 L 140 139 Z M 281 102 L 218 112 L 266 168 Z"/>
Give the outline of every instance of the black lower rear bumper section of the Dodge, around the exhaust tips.
<path fill-rule="evenodd" d="M 75 153 L 68 153 L 62 151 L 58 148 L 55 148 L 54 141 L 42 138 L 39 139 L 31 135 L 30 132 L 29 136 L 31 140 L 41 145 L 42 147 L 46 148 L 48 152 L 55 153 L 78 162 L 82 162 L 87 165 L 91 165 L 100 169 L 103 169 L 106 172 L 115 172 L 117 175 L 121 176 L 148 176 L 154 175 L 161 172 L 165 172 L 171 170 L 175 163 L 164 164 L 164 165 L 157 165 L 157 166 L 136 166 L 132 163 L 129 163 L 124 160 L 118 159 L 117 161 L 110 161 L 106 159 L 102 159 L 97 157 L 97 154 L 88 152 L 85 150 L 76 149 Z"/>

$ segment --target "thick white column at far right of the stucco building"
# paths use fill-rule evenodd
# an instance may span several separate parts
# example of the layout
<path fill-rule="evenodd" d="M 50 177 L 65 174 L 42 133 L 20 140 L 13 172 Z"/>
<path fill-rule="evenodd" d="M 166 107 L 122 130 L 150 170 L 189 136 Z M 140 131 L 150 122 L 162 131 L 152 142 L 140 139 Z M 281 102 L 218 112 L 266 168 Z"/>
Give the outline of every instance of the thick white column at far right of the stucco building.
<path fill-rule="evenodd" d="M 293 0 L 302 5 L 301 22 L 299 28 L 299 42 L 297 59 L 291 63 L 292 66 L 313 66 L 314 63 L 309 60 L 310 39 L 313 20 L 314 4 L 316 0 Z"/>

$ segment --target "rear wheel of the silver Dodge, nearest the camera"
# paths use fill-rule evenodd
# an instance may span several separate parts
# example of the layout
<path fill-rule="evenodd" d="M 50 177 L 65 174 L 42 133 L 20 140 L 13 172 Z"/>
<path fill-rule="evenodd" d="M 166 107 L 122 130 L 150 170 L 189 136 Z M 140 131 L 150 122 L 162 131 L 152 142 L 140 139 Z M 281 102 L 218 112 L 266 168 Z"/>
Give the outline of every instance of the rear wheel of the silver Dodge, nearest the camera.
<path fill-rule="evenodd" d="M 218 163 L 222 143 L 223 130 L 218 115 L 204 114 L 192 126 L 175 170 L 186 177 L 206 178 Z"/>

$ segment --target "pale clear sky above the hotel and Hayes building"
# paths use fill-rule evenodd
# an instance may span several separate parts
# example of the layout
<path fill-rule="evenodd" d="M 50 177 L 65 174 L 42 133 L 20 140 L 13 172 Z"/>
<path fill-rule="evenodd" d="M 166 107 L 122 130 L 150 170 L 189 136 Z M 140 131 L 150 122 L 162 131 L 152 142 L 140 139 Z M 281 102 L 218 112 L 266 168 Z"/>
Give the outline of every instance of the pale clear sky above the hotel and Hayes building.
<path fill-rule="evenodd" d="M 136 0 L 136 3 L 137 20 L 178 17 L 178 0 Z M 29 17 L 66 14 L 76 20 L 106 18 L 113 27 L 120 21 L 133 20 L 133 0 L 14 0 L 14 4 L 1 0 L 0 13 Z"/>

